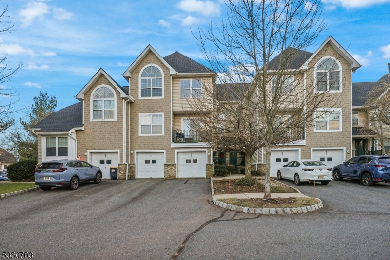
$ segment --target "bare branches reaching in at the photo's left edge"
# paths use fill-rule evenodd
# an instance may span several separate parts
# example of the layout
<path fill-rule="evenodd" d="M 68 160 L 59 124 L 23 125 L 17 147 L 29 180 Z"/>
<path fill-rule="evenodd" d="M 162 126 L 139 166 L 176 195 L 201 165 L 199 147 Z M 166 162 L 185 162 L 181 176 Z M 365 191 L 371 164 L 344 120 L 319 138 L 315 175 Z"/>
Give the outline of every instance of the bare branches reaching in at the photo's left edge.
<path fill-rule="evenodd" d="M 0 13 L 0 33 L 11 32 L 12 28 L 14 27 L 14 25 L 11 24 L 11 21 L 7 20 L 9 18 L 9 16 L 6 15 L 7 11 L 8 5 Z M 10 78 L 22 66 L 22 63 L 20 61 L 15 69 L 8 68 L 7 64 L 5 64 L 7 58 L 8 55 L 0 58 L 0 86 L 3 85 L 5 82 L 8 82 Z M 18 100 L 13 100 L 12 97 L 16 95 L 17 93 L 11 88 L 0 88 L 0 96 L 9 97 L 9 100 L 7 102 L 0 103 L 0 133 L 8 129 L 15 123 L 15 119 L 12 117 L 12 115 L 17 111 L 20 111 L 14 110 L 15 103 L 18 102 Z"/>

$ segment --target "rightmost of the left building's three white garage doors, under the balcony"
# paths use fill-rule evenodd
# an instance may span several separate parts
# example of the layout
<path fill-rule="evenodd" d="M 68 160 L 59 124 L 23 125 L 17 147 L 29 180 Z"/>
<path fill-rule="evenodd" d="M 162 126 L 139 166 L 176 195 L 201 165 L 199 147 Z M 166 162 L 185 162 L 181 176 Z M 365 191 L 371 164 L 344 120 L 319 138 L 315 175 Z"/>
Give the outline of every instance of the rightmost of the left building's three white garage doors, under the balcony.
<path fill-rule="evenodd" d="M 178 178 L 206 178 L 206 152 L 177 152 Z"/>

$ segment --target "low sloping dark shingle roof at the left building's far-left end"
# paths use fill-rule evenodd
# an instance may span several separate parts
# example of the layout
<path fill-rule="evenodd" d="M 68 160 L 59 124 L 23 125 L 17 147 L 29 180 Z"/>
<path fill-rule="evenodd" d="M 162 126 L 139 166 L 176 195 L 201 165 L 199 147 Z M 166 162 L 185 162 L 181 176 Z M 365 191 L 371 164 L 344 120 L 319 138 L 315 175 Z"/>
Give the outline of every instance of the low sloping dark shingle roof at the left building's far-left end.
<path fill-rule="evenodd" d="M 82 126 L 82 102 L 78 102 L 51 113 L 31 129 L 39 129 L 39 132 L 69 132 L 72 128 Z"/>

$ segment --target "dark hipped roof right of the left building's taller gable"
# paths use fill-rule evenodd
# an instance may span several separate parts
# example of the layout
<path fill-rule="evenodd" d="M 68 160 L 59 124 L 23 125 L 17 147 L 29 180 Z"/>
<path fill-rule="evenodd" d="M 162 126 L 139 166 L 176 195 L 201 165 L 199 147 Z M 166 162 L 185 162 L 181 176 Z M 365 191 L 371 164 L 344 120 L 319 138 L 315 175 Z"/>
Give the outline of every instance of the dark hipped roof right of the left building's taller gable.
<path fill-rule="evenodd" d="M 211 69 L 196 62 L 192 58 L 182 55 L 178 51 L 164 57 L 178 73 L 214 73 Z"/>

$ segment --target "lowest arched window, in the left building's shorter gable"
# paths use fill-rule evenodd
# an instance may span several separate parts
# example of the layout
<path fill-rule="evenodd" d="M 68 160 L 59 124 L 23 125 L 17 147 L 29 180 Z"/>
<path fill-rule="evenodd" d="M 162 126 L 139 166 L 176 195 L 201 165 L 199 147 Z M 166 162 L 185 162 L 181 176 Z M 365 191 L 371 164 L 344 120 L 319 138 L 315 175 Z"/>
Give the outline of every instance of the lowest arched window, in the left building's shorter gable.
<path fill-rule="evenodd" d="M 92 119 L 115 119 L 115 95 L 107 87 L 92 94 Z"/>

